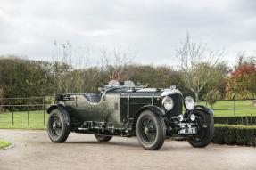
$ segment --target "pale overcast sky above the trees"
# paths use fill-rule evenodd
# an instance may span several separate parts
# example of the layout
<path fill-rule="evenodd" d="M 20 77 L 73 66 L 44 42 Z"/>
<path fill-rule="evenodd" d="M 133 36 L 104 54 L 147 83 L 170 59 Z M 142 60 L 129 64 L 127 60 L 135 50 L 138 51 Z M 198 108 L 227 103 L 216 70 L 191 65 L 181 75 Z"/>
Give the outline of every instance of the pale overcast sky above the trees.
<path fill-rule="evenodd" d="M 0 55 L 52 57 L 54 40 L 90 49 L 136 53 L 142 64 L 175 65 L 186 39 L 226 49 L 229 65 L 239 51 L 256 55 L 254 0 L 0 0 Z"/>

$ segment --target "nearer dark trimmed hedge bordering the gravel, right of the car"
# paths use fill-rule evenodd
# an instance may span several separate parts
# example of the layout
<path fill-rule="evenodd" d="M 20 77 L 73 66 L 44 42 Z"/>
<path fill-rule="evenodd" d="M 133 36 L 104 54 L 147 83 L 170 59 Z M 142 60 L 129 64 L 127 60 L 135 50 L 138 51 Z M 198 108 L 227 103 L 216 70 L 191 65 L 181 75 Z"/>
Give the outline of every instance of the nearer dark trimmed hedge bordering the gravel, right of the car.
<path fill-rule="evenodd" d="M 213 143 L 256 146 L 256 126 L 214 125 Z"/>

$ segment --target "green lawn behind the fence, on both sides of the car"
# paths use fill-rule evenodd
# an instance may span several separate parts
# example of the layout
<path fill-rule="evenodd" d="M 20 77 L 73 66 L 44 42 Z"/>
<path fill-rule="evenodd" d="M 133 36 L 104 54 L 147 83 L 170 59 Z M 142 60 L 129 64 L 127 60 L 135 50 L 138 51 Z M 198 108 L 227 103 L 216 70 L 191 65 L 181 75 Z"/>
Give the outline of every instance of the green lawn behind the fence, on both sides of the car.
<path fill-rule="evenodd" d="M 200 104 L 205 105 L 205 102 Z M 236 101 L 234 115 L 234 101 L 217 101 L 213 105 L 213 109 L 232 109 L 232 110 L 215 110 L 215 117 L 233 117 L 233 116 L 256 116 L 256 107 L 252 106 L 252 101 Z M 45 125 L 47 125 L 49 115 L 45 111 Z M 14 112 L 14 125 L 12 125 L 12 112 L 0 114 L 0 128 L 16 128 L 16 129 L 46 129 L 44 125 L 44 111 Z"/>

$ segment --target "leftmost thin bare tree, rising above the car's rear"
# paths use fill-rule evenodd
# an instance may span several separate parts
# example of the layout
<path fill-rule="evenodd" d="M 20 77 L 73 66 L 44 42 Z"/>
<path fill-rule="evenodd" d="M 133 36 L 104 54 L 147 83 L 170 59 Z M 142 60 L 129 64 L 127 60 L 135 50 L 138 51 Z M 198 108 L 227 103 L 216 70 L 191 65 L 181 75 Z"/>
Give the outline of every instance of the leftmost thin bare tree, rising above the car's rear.
<path fill-rule="evenodd" d="M 73 48 L 71 43 L 54 42 L 53 69 L 58 93 L 73 93 L 83 90 L 84 69 L 88 66 L 88 50 Z"/>

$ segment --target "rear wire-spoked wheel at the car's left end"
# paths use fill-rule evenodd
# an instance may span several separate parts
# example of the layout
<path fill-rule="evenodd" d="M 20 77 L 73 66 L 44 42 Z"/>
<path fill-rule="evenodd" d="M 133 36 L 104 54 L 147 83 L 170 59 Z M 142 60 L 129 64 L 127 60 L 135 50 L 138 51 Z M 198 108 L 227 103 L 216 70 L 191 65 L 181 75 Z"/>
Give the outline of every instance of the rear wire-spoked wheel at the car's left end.
<path fill-rule="evenodd" d="M 59 109 L 54 109 L 50 113 L 47 132 L 52 142 L 65 142 L 69 137 L 69 129 Z"/>

